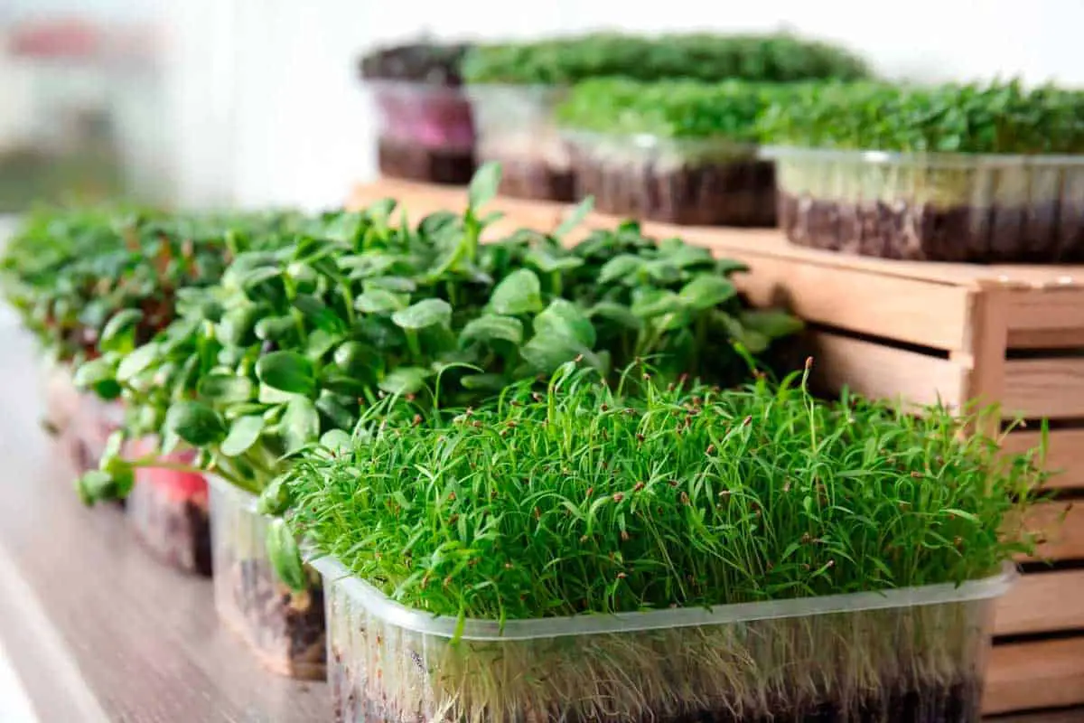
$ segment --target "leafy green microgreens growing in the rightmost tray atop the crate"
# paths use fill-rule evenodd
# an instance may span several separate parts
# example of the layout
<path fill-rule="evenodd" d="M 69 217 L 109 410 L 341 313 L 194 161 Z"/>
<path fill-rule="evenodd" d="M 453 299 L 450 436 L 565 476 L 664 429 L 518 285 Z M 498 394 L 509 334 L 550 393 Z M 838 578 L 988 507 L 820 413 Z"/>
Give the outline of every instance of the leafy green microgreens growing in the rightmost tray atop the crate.
<path fill-rule="evenodd" d="M 809 85 L 762 118 L 766 142 L 828 149 L 1082 153 L 1084 92 L 1019 82 Z"/>

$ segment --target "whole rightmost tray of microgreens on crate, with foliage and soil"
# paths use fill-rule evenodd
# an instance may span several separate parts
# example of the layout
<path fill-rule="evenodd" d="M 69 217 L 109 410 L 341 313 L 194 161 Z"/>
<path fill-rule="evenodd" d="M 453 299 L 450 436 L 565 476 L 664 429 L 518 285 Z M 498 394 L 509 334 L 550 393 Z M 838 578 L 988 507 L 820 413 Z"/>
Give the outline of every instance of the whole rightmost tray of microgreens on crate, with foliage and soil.
<path fill-rule="evenodd" d="M 795 99 L 763 120 L 792 243 L 919 261 L 1084 260 L 1084 93 L 854 86 Z"/>

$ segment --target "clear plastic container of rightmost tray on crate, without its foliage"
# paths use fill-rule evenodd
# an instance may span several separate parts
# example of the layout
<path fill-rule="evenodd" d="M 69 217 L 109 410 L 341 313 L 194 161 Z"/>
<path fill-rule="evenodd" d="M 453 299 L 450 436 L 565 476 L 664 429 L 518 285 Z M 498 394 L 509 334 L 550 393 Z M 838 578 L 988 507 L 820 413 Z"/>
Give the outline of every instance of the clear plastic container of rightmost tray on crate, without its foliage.
<path fill-rule="evenodd" d="M 1084 156 L 775 147 L 779 224 L 802 246 L 924 261 L 1084 260 Z"/>

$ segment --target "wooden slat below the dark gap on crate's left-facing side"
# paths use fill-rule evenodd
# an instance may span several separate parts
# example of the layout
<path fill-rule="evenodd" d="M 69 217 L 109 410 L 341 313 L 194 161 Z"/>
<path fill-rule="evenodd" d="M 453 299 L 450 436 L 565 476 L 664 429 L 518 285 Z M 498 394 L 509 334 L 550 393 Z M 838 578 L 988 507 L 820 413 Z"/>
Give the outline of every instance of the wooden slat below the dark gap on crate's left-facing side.
<path fill-rule="evenodd" d="M 866 397 L 957 408 L 964 400 L 967 370 L 915 351 L 886 347 L 828 332 L 810 335 L 816 380 L 831 391 L 844 386 Z"/>

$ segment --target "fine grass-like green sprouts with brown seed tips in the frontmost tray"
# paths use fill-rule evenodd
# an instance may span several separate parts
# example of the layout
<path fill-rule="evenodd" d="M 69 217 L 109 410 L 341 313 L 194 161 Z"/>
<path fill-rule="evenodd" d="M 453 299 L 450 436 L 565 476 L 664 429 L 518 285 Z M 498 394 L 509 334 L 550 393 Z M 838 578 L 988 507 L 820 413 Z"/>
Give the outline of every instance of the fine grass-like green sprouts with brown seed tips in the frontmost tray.
<path fill-rule="evenodd" d="M 960 582 L 1032 545 L 1003 533 L 1044 479 L 1034 453 L 942 409 L 640 370 L 629 398 L 573 366 L 454 418 L 373 413 L 275 495 L 395 599 L 500 620 Z"/>

